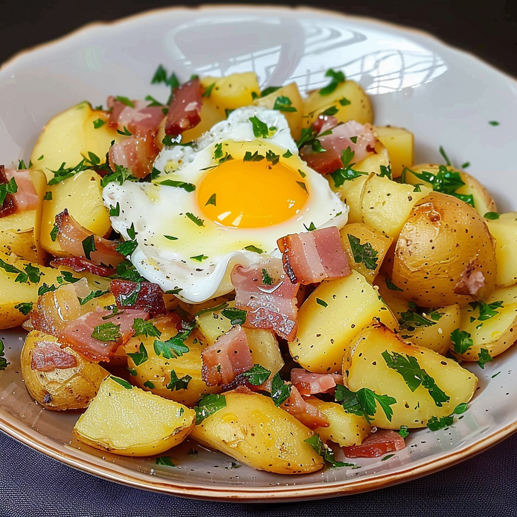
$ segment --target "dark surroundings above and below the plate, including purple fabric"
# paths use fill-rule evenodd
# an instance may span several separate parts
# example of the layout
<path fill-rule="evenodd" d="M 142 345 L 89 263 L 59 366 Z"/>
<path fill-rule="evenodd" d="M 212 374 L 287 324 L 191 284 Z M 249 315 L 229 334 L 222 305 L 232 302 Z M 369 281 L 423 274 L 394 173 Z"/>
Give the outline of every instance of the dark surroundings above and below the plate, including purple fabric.
<path fill-rule="evenodd" d="M 248 4 L 253 3 L 259 4 Z M 68 34 L 86 23 L 109 22 L 147 9 L 185 4 L 159 0 L 0 0 L 0 64 L 20 50 Z M 320 2 L 311 7 L 422 29 L 517 76 L 517 2 L 492 1 L 476 6 L 474 2 L 363 0 L 361 4 L 344 5 Z M 375 492 L 291 504 L 202 503 L 92 477 L 0 432 L 0 517 L 517 515 L 516 470 L 517 435 L 513 435 L 442 472 Z"/>

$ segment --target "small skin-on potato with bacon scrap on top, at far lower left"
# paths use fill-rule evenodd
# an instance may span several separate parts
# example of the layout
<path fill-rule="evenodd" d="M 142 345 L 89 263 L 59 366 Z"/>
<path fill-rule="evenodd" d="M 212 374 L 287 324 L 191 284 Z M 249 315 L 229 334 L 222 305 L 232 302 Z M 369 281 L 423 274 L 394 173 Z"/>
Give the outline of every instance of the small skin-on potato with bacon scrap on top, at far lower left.
<path fill-rule="evenodd" d="M 47 367 L 43 370 L 35 366 L 34 354 L 45 348 L 61 347 L 56 337 L 38 330 L 27 334 L 21 353 L 22 375 L 32 398 L 47 409 L 83 409 L 97 394 L 102 379 L 109 373 L 99 364 L 90 362 L 69 346 L 60 348 L 73 366 L 68 368 Z"/>

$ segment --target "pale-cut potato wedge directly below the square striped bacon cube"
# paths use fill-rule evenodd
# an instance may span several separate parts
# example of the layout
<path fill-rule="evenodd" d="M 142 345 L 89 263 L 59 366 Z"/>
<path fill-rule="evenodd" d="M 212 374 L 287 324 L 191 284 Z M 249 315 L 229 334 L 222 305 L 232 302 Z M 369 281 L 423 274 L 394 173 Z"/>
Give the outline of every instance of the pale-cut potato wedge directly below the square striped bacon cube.
<path fill-rule="evenodd" d="M 390 328 L 398 327 L 377 291 L 360 273 L 324 280 L 298 311 L 298 332 L 289 343 L 291 356 L 310 372 L 339 372 L 349 343 L 374 317 Z"/>

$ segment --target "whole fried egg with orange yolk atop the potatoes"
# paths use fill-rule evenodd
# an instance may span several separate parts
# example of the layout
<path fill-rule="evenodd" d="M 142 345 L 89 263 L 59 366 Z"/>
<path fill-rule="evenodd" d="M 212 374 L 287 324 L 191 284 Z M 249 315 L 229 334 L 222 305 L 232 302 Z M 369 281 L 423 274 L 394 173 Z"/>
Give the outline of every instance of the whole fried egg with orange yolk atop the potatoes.
<path fill-rule="evenodd" d="M 163 148 L 155 168 L 151 183 L 108 184 L 104 204 L 138 242 L 139 273 L 186 302 L 231 292 L 233 267 L 280 256 L 285 235 L 346 223 L 346 205 L 300 159 L 277 110 L 234 110 L 192 146 Z"/>

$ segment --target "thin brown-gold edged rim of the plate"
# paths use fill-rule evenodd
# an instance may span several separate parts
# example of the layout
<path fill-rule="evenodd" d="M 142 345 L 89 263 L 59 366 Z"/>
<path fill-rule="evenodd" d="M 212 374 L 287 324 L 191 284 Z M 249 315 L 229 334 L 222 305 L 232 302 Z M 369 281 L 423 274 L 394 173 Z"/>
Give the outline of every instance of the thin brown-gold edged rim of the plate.
<path fill-rule="evenodd" d="M 80 27 L 75 28 L 70 33 L 54 38 L 49 41 L 45 41 L 39 44 L 32 45 L 26 49 L 23 49 L 14 55 L 10 56 L 5 62 L 0 64 L 0 72 L 5 72 L 11 66 L 17 66 L 18 63 L 23 60 L 29 54 L 35 51 L 43 51 L 45 49 L 51 49 L 52 47 L 58 47 L 69 39 L 80 37 L 82 34 L 96 29 L 98 27 L 112 27 L 117 25 L 124 25 L 127 23 L 134 22 L 138 19 L 145 17 L 159 16 L 160 13 L 170 13 L 175 11 L 180 12 L 194 12 L 194 11 L 217 11 L 217 10 L 239 10 L 242 12 L 258 12 L 268 10 L 276 11 L 278 13 L 312 13 L 319 14 L 325 17 L 334 17 L 343 20 L 348 23 L 363 23 L 370 26 L 376 26 L 390 31 L 397 31 L 404 35 L 412 35 L 422 37 L 428 41 L 432 41 L 438 46 L 446 49 L 448 52 L 453 52 L 457 55 L 461 55 L 464 58 L 468 58 L 475 62 L 476 66 L 481 66 L 485 70 L 490 70 L 490 73 L 495 73 L 499 78 L 505 79 L 512 83 L 513 87 L 517 87 L 517 78 L 508 72 L 497 68 L 492 63 L 486 62 L 482 58 L 478 57 L 471 51 L 455 47 L 453 44 L 446 43 L 441 38 L 431 34 L 423 29 L 415 28 L 408 25 L 398 24 L 394 22 L 385 21 L 378 18 L 369 16 L 360 16 L 356 14 L 348 14 L 340 11 L 333 11 L 327 8 L 317 8 L 312 6 L 304 5 L 277 5 L 277 4 L 201 4 L 197 6 L 168 6 L 160 7 L 155 9 L 142 10 L 110 21 L 93 21 L 86 23 Z M 6 418 L 6 415 L 8 416 Z M 432 457 L 426 458 L 420 461 L 416 466 L 414 464 L 408 464 L 403 467 L 397 467 L 394 472 L 381 472 L 374 475 L 364 476 L 364 478 L 356 478 L 352 482 L 346 480 L 338 481 L 326 481 L 321 483 L 309 483 L 299 484 L 296 483 L 288 485 L 271 485 L 271 486 L 242 486 L 242 485 L 225 485 L 217 486 L 205 484 L 201 486 L 197 483 L 187 484 L 183 480 L 174 480 L 168 478 L 163 482 L 155 481 L 152 476 L 148 475 L 149 479 L 144 480 L 142 477 L 128 474 L 126 471 L 130 470 L 127 467 L 117 466 L 111 467 L 110 464 L 98 465 L 93 461 L 87 459 L 81 459 L 74 457 L 72 454 L 67 454 L 66 451 L 62 451 L 57 446 L 52 444 L 44 443 L 43 439 L 38 439 L 40 436 L 44 438 L 37 430 L 29 427 L 17 428 L 13 422 L 10 422 L 10 418 L 15 419 L 12 415 L 0 408 L 0 430 L 5 432 L 7 435 L 24 445 L 37 450 L 40 453 L 47 455 L 48 457 L 59 461 L 65 465 L 68 465 L 82 472 L 107 479 L 119 484 L 131 486 L 132 488 L 138 488 L 148 491 L 155 491 L 175 495 L 178 497 L 188 497 L 200 500 L 212 500 L 212 501 L 224 501 L 224 502 L 241 502 L 246 500 L 247 502 L 264 503 L 266 501 L 300 501 L 309 499 L 323 499 L 329 497 L 351 495 L 357 493 L 368 492 L 385 488 L 394 484 L 407 482 L 413 479 L 417 479 L 423 476 L 427 476 L 448 468 L 454 464 L 463 462 L 473 456 L 495 446 L 508 438 L 510 435 L 517 432 L 517 418 L 510 423 L 505 425 L 499 425 L 499 427 L 492 432 L 488 432 L 482 437 L 478 438 L 472 444 L 464 444 L 461 448 L 458 448 L 452 452 L 444 454 L 441 458 L 432 459 Z M 17 421 L 19 419 L 16 419 Z M 47 438 L 48 439 L 48 438 Z M 66 445 L 66 444 L 65 444 Z M 94 457 L 95 458 L 95 457 Z M 122 469 L 124 472 L 121 472 Z M 134 471 L 136 474 L 140 473 L 138 470 Z"/>

